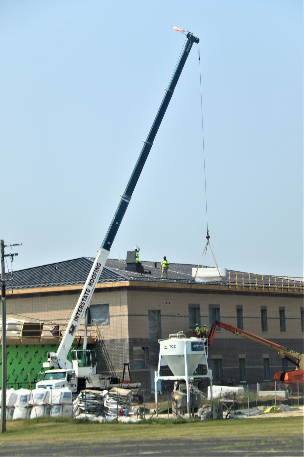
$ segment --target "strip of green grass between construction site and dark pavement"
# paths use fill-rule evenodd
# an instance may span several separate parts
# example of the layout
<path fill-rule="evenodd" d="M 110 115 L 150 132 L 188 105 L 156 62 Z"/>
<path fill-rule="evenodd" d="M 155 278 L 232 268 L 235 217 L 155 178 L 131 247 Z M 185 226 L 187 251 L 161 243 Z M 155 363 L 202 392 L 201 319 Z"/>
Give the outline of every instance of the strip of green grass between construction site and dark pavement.
<path fill-rule="evenodd" d="M 88 420 L 50 419 L 13 420 L 6 422 L 6 432 L 0 435 L 2 443 L 39 443 L 60 441 L 117 442 L 182 438 L 200 440 L 203 437 L 263 437 L 302 436 L 303 417 L 269 417 L 251 420 L 155 420 L 136 424 L 120 422 L 95 423 Z"/>

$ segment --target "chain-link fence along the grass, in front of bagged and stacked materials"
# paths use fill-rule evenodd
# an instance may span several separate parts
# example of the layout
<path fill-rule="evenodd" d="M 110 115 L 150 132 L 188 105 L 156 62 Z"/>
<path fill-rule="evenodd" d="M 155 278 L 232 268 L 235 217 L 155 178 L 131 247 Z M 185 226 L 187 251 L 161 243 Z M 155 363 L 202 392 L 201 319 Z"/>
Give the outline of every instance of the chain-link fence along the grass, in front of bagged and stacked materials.
<path fill-rule="evenodd" d="M 185 384 L 181 383 L 175 387 L 173 390 L 158 392 L 157 404 L 155 393 L 150 390 L 112 388 L 109 391 L 83 390 L 79 394 L 71 396 L 69 406 L 67 402 L 59 400 L 59 398 L 64 399 L 63 393 L 62 397 L 58 397 L 59 393 L 56 391 L 50 392 L 47 396 L 41 396 L 41 389 L 36 390 L 36 393 L 33 390 L 33 395 L 26 389 L 17 391 L 8 389 L 7 419 L 35 418 L 38 413 L 39 417 L 65 415 L 98 422 L 113 420 L 137 422 L 156 418 L 165 420 L 201 419 L 202 417 L 229 419 L 232 416 L 236 417 L 236 414 L 287 412 L 304 404 L 304 384 L 299 382 L 289 384 L 268 382 L 237 386 L 213 385 L 212 402 L 210 386 L 202 383 L 197 387 L 190 387 L 189 403 Z M 67 398 L 67 393 L 65 395 Z M 19 411 L 16 411 L 17 408 Z M 29 408 L 32 408 L 32 412 L 29 411 Z"/>

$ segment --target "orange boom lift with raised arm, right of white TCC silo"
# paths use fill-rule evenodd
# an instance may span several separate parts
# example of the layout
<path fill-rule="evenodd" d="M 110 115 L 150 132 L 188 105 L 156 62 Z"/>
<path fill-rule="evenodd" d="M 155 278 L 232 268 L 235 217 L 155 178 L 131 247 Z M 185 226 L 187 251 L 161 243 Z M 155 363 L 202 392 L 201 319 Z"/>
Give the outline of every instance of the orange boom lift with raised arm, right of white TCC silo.
<path fill-rule="evenodd" d="M 208 345 L 211 346 L 214 340 L 216 329 L 217 327 L 221 327 L 222 329 L 228 330 L 229 332 L 234 333 L 234 335 L 241 336 L 242 338 L 246 338 L 247 340 L 254 341 L 255 343 L 264 345 L 274 351 L 277 351 L 278 354 L 285 356 L 285 358 L 295 365 L 294 370 L 286 370 L 283 372 L 275 373 L 273 376 L 273 381 L 282 381 L 285 383 L 286 390 L 289 393 L 292 392 L 292 383 L 297 383 L 302 385 L 302 391 L 304 388 L 304 354 L 300 354 L 299 352 L 293 351 L 288 347 L 283 347 L 272 341 L 265 340 L 260 336 L 253 335 L 252 333 L 245 332 L 245 330 L 238 329 L 237 327 L 233 327 L 232 325 L 225 324 L 225 322 L 214 321 L 208 336 Z"/>

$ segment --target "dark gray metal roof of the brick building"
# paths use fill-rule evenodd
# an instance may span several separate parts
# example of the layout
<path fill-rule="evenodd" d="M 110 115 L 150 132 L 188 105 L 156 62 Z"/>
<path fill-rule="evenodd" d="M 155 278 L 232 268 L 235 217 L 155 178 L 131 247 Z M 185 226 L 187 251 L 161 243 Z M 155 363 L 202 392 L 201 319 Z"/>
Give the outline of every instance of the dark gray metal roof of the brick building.
<path fill-rule="evenodd" d="M 65 260 L 63 262 L 56 262 L 43 266 L 36 266 L 27 268 L 26 270 L 14 271 L 5 274 L 6 288 L 7 289 L 28 289 L 37 287 L 58 287 L 58 286 L 71 286 L 83 285 L 88 277 L 89 271 L 92 267 L 94 259 L 89 257 L 80 257 L 79 259 Z M 113 283 L 125 281 L 137 282 L 165 282 L 165 283 L 180 283 L 180 284 L 194 284 L 196 283 L 192 277 L 192 268 L 197 265 L 170 263 L 168 271 L 168 279 L 161 279 L 160 262 L 141 261 L 144 267 L 144 273 L 137 273 L 135 271 L 125 270 L 126 260 L 108 259 L 106 266 L 103 268 L 102 274 L 99 278 L 99 283 Z M 205 282 L 204 284 L 226 285 L 230 279 L 235 285 L 235 280 L 243 281 L 248 284 L 251 282 L 252 286 L 257 284 L 258 287 L 278 287 L 277 282 L 280 276 L 261 276 L 241 271 L 227 270 L 227 277 L 222 281 Z M 267 281 L 267 283 L 266 283 Z M 282 277 L 284 288 L 288 286 L 289 279 Z M 198 283 L 196 283 L 198 284 Z M 246 285 L 247 285 L 246 284 Z M 241 286 L 241 284 L 239 284 Z M 291 284 L 290 284 L 291 285 Z M 292 287 L 292 285 L 291 285 Z M 295 281 L 295 288 L 301 287 L 299 281 Z"/>

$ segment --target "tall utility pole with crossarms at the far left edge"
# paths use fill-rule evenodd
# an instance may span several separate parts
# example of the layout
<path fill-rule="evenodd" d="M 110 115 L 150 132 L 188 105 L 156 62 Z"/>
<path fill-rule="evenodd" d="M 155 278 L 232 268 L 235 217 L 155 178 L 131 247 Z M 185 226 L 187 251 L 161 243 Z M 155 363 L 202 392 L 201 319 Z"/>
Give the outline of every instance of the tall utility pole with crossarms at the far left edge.
<path fill-rule="evenodd" d="M 5 266 L 4 258 L 14 259 L 18 254 L 5 254 L 4 248 L 7 246 L 21 246 L 21 244 L 4 244 L 0 239 L 0 258 L 1 258 L 1 311 L 2 311 L 2 398 L 1 398 L 1 433 L 6 431 L 6 309 L 5 309 Z"/>

